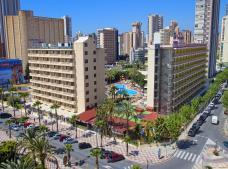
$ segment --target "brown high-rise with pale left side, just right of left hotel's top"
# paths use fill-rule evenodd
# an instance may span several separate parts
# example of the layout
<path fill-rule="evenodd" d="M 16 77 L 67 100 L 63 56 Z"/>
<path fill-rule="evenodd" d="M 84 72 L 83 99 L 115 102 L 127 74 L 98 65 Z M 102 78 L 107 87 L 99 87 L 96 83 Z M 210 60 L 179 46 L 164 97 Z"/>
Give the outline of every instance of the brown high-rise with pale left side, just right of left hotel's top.
<path fill-rule="evenodd" d="M 106 64 L 113 64 L 118 58 L 118 30 L 104 28 L 97 30 L 97 46 L 106 52 Z"/>

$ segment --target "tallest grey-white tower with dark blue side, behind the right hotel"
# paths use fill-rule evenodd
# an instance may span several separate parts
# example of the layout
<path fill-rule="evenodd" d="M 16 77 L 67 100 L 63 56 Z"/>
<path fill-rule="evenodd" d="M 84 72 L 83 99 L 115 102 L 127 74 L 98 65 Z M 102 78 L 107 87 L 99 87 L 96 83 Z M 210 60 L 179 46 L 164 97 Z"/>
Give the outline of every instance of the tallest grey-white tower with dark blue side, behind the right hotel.
<path fill-rule="evenodd" d="M 195 43 L 208 46 L 208 77 L 216 73 L 220 0 L 196 0 Z"/>

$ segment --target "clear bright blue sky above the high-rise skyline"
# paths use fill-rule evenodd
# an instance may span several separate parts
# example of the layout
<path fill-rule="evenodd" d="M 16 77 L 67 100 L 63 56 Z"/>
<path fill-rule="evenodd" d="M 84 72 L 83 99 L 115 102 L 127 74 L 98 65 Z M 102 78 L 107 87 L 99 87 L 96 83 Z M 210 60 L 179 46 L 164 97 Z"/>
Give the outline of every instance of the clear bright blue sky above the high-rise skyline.
<path fill-rule="evenodd" d="M 221 0 L 221 17 L 225 15 Z M 21 9 L 33 10 L 36 16 L 72 17 L 73 35 L 76 32 L 96 32 L 98 28 L 115 27 L 119 32 L 131 30 L 131 23 L 142 22 L 147 33 L 147 16 L 164 16 L 164 26 L 176 20 L 181 29 L 194 28 L 195 0 L 21 0 Z"/>

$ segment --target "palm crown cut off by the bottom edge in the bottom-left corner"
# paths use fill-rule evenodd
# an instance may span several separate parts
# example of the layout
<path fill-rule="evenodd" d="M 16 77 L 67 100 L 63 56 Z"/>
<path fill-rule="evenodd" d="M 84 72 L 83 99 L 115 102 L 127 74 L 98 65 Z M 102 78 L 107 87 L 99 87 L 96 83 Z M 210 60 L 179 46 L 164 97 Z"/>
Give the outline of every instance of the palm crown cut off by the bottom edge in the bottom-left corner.
<path fill-rule="evenodd" d="M 36 169 L 34 160 L 29 156 L 23 156 L 16 161 L 6 161 L 0 165 L 1 169 Z"/>

